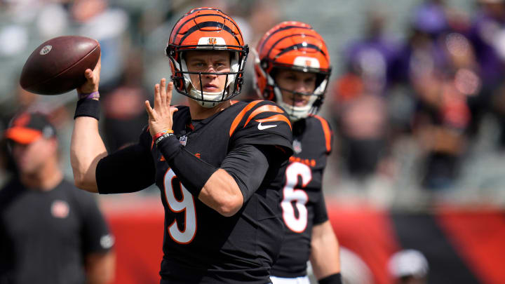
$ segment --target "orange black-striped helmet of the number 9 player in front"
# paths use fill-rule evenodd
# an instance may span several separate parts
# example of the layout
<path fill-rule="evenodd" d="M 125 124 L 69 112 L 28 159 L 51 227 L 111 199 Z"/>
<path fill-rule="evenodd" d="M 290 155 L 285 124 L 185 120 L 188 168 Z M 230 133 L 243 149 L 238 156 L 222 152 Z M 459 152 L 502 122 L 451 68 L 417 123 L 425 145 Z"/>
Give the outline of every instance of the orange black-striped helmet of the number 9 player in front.
<path fill-rule="evenodd" d="M 231 52 L 230 72 L 189 72 L 184 60 L 184 52 L 191 50 L 229 50 Z M 177 21 L 170 32 L 166 47 L 175 90 L 197 100 L 204 107 L 213 107 L 235 97 L 242 89 L 248 51 L 241 30 L 229 15 L 216 8 L 192 9 Z M 226 88 L 218 93 L 196 90 L 189 74 L 226 75 Z"/>

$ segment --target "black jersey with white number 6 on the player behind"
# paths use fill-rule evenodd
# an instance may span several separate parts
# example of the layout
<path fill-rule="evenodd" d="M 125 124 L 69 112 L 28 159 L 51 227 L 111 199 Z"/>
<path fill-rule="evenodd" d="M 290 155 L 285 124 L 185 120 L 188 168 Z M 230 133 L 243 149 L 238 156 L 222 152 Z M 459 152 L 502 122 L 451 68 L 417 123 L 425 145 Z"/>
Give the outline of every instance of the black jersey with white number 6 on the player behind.
<path fill-rule="evenodd" d="M 321 116 L 293 124 L 293 151 L 285 172 L 282 219 L 285 239 L 271 275 L 294 278 L 307 275 L 312 227 L 328 220 L 321 184 L 331 152 L 332 131 Z"/>

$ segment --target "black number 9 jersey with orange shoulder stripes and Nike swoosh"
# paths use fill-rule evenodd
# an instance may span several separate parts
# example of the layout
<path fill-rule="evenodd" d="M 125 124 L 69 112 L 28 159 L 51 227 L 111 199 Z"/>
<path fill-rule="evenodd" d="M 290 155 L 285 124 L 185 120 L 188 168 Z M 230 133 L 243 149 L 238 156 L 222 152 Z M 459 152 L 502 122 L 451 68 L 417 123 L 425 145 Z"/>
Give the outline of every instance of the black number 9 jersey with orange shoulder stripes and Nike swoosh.
<path fill-rule="evenodd" d="M 216 168 L 231 149 L 244 144 L 267 147 L 273 155 L 267 156 L 269 170 L 260 188 L 243 192 L 241 210 L 224 217 L 190 194 L 156 149 L 149 131 L 144 130 L 140 145 L 148 147 L 147 154 L 154 161 L 152 182 L 161 189 L 165 208 L 161 283 L 269 283 L 283 238 L 278 204 L 285 165 L 292 153 L 288 117 L 268 101 L 236 102 L 201 121 L 191 121 L 188 107 L 178 109 L 173 115 L 176 137 L 187 151 Z M 101 188 L 98 175 L 107 173 L 99 173 L 100 168 L 99 164 L 100 193 L 135 190 Z"/>

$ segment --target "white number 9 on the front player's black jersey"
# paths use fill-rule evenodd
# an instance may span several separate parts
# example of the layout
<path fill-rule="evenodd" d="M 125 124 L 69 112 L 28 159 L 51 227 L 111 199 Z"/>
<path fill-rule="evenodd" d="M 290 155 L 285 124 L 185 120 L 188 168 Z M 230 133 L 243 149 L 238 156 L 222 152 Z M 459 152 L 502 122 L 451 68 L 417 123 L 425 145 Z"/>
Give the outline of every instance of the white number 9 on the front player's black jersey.
<path fill-rule="evenodd" d="M 193 196 L 182 185 L 179 178 L 172 169 L 169 169 L 163 180 L 165 186 L 165 196 L 168 207 L 175 213 L 184 211 L 184 230 L 180 231 L 177 226 L 177 219 L 168 226 L 168 234 L 176 243 L 185 245 L 191 243 L 196 234 L 196 210 Z M 181 199 L 175 197 L 174 191 L 178 190 L 182 194 Z"/>

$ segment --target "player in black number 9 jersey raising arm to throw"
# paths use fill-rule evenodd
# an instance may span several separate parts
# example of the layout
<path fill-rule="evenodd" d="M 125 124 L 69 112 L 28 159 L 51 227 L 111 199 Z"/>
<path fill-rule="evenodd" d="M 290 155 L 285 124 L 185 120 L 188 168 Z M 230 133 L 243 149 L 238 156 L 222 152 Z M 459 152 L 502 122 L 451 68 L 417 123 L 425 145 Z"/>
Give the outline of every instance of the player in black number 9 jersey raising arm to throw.
<path fill-rule="evenodd" d="M 156 183 L 165 208 L 161 283 L 271 283 L 281 247 L 283 173 L 292 154 L 285 111 L 273 102 L 231 102 L 248 55 L 238 26 L 196 8 L 173 27 L 140 140 L 107 154 L 98 133 L 100 65 L 78 89 L 71 161 L 78 187 L 100 194 Z M 172 90 L 189 107 L 170 106 Z"/>

